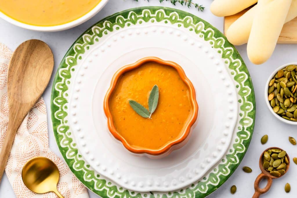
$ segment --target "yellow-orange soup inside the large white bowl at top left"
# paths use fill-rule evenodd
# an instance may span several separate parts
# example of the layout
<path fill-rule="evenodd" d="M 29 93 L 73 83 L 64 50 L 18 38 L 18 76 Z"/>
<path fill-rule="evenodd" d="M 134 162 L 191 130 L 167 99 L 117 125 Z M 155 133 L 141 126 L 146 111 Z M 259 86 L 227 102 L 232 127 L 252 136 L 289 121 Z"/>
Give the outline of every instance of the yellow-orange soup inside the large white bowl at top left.
<path fill-rule="evenodd" d="M 56 26 L 85 15 L 101 0 L 0 0 L 5 15 L 35 26 Z"/>

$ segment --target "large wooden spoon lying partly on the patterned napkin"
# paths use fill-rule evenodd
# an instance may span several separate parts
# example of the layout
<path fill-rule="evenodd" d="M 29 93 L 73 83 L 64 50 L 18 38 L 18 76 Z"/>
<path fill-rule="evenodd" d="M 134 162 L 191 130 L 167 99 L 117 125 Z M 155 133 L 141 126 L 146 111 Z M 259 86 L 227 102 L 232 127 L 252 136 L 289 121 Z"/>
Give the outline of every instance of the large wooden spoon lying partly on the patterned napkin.
<path fill-rule="evenodd" d="M 36 39 L 23 42 L 12 55 L 7 77 L 9 121 L 0 153 L 0 182 L 17 129 L 48 85 L 53 65 L 50 47 Z"/>

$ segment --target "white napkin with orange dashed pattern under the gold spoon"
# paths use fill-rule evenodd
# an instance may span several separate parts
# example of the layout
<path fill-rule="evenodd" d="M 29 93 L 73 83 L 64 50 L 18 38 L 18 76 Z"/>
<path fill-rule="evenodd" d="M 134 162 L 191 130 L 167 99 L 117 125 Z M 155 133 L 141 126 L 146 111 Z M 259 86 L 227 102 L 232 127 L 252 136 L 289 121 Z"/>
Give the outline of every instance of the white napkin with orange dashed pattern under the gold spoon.
<path fill-rule="evenodd" d="M 7 72 L 11 56 L 12 52 L 0 43 L 0 151 L 8 123 Z M 53 192 L 36 194 L 23 183 L 21 177 L 23 165 L 36 156 L 47 157 L 58 166 L 60 172 L 58 191 L 65 198 L 89 197 L 86 187 L 72 174 L 69 167 L 48 148 L 47 125 L 45 103 L 40 98 L 19 127 L 5 168 L 16 197 L 57 197 Z"/>

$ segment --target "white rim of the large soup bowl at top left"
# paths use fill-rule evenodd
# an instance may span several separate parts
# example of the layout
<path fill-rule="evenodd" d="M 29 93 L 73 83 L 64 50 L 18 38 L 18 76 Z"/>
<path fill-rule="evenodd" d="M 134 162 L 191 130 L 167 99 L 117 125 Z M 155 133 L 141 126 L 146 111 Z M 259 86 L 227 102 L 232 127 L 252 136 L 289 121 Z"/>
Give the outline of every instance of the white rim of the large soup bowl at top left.
<path fill-rule="evenodd" d="M 85 22 L 86 20 L 89 20 L 91 17 L 93 17 L 95 14 L 97 14 L 108 2 L 108 0 L 102 0 L 99 2 L 99 4 L 91 9 L 90 12 L 86 13 L 85 15 L 81 16 L 80 18 L 71 21 L 69 23 L 65 23 L 62 25 L 57 25 L 57 26 L 33 26 L 29 25 L 26 23 L 19 22 L 17 20 L 14 20 L 10 18 L 9 16 L 5 15 L 4 13 L 0 12 L 0 18 L 6 20 L 7 22 L 19 26 L 21 28 L 26 28 L 29 30 L 35 30 L 35 31 L 41 31 L 41 32 L 54 32 L 54 31 L 61 31 L 61 30 L 66 30 L 69 28 L 73 28 L 75 26 L 80 25 L 81 23 Z"/>

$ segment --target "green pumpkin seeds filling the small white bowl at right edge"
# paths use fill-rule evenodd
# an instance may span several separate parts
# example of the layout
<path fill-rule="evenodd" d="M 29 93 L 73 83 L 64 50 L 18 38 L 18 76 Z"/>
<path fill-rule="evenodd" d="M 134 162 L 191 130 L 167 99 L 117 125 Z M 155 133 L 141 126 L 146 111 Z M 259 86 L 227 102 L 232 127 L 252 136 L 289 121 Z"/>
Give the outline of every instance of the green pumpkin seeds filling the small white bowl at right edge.
<path fill-rule="evenodd" d="M 268 100 L 282 118 L 297 121 L 297 66 L 279 70 L 269 82 Z"/>

